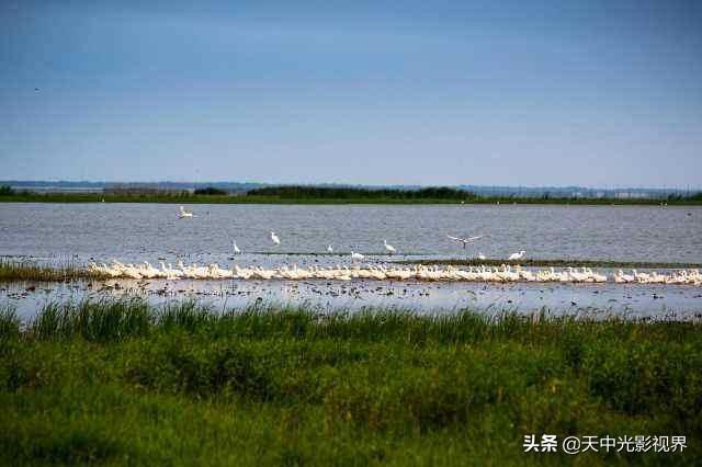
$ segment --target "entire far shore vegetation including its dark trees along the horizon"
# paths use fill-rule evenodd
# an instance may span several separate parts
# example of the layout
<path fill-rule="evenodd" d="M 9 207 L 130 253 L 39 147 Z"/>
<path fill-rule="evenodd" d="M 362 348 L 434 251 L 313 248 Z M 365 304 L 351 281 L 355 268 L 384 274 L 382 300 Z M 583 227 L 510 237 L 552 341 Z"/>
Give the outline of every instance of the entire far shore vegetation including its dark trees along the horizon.
<path fill-rule="evenodd" d="M 563 205 L 702 205 L 702 193 L 665 198 L 484 196 L 453 187 L 419 190 L 270 186 L 244 193 L 207 187 L 184 191 L 106 193 L 36 193 L 0 186 L 0 203 L 163 203 L 163 204 L 563 204 Z"/>

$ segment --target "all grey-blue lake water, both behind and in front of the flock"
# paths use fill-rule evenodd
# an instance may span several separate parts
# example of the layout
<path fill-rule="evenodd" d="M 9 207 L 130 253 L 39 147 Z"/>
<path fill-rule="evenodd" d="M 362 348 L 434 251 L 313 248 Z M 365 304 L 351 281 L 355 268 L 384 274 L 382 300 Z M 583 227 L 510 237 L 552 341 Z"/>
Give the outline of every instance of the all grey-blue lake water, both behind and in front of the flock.
<path fill-rule="evenodd" d="M 0 204 L 0 255 L 65 264 L 116 258 L 231 264 L 231 241 L 244 265 L 385 262 L 383 239 L 397 258 L 506 258 L 525 250 L 536 259 L 600 259 L 702 263 L 702 208 L 657 206 L 301 206 L 194 205 L 196 217 L 179 219 L 178 206 L 160 204 Z M 270 231 L 282 244 L 275 247 Z M 463 250 L 446 235 L 485 236 Z M 273 254 L 296 253 L 296 254 Z M 317 254 L 308 254 L 317 253 Z M 115 287 L 114 285 L 117 284 Z M 120 285 L 121 284 L 121 285 Z M 616 284 L 483 284 L 121 281 L 69 284 L 0 284 L 9 303 L 31 319 L 48 300 L 139 295 L 152 303 L 194 297 L 216 309 L 256 300 L 308 304 L 325 309 L 365 306 L 485 312 L 604 314 L 699 319 L 702 289 L 694 286 Z"/>

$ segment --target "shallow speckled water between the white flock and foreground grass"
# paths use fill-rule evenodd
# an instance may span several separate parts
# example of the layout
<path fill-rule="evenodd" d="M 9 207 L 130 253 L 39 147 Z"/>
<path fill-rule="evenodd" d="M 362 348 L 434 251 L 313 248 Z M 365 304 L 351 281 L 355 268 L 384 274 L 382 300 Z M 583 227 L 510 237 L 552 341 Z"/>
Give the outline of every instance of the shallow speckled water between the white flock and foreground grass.
<path fill-rule="evenodd" d="M 320 311 L 396 308 L 417 312 L 452 312 L 467 308 L 484 314 L 547 310 L 554 315 L 595 318 L 702 319 L 699 286 L 619 284 L 485 284 L 376 281 L 73 281 L 0 284 L 0 304 L 9 303 L 31 320 L 49 301 L 139 297 L 161 305 L 196 299 L 214 310 L 252 304 L 310 306 Z"/>

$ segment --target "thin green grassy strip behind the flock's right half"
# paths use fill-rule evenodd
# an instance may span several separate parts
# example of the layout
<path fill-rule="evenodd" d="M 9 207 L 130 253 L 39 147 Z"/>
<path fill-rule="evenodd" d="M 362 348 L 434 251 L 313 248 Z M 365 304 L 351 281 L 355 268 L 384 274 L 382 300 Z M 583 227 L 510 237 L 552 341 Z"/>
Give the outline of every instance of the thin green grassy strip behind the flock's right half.
<path fill-rule="evenodd" d="M 487 259 L 479 260 L 477 258 L 452 258 L 438 260 L 397 260 L 398 264 L 422 264 L 422 265 L 451 265 L 451 266 L 501 266 L 502 264 L 517 265 L 525 267 L 609 267 L 609 269 L 700 269 L 700 263 L 670 263 L 670 262 L 652 262 L 652 261 L 609 261 L 609 260 L 539 260 L 526 259 L 519 261 Z"/>

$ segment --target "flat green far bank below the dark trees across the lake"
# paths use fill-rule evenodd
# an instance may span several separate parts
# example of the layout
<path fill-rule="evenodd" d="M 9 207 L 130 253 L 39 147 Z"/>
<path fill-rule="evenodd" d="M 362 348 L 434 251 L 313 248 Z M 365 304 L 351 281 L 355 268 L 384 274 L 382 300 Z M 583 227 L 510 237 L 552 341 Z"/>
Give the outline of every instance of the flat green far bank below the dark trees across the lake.
<path fill-rule="evenodd" d="M 103 193 L 15 193 L 0 195 L 0 203 L 155 203 L 155 204 L 533 204 L 533 205 L 593 205 L 593 206 L 700 206 L 702 198 L 680 198 L 661 201 L 655 198 L 516 198 L 516 197 L 472 197 L 467 200 L 403 198 L 403 197 L 287 197 L 261 195 L 194 195 L 194 194 L 103 194 Z"/>

